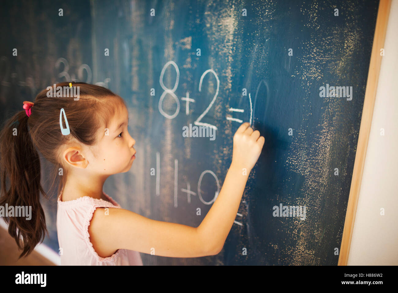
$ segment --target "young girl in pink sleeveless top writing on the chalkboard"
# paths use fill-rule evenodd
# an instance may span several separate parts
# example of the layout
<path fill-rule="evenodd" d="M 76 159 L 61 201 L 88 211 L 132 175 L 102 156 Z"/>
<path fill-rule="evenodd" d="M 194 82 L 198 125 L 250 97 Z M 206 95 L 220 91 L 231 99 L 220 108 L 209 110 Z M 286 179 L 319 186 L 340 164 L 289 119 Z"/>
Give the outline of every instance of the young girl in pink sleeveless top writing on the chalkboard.
<path fill-rule="evenodd" d="M 178 258 L 218 254 L 264 137 L 247 122 L 238 128 L 224 185 L 198 227 L 151 220 L 121 208 L 102 191 L 107 177 L 127 172 L 135 160 L 124 100 L 100 86 L 72 86 L 79 87 L 78 98 L 42 90 L 34 103 L 24 102 L 0 133 L 0 205 L 32 207 L 31 220 L 5 218 L 8 232 L 23 250 L 20 258 L 48 233 L 39 202 L 40 193 L 47 195 L 37 150 L 54 164 L 54 176 L 62 175 L 57 210 L 61 265 L 142 265 L 139 252 Z M 66 121 L 60 119 L 61 109 Z M 60 123 L 69 134 L 62 133 Z"/>

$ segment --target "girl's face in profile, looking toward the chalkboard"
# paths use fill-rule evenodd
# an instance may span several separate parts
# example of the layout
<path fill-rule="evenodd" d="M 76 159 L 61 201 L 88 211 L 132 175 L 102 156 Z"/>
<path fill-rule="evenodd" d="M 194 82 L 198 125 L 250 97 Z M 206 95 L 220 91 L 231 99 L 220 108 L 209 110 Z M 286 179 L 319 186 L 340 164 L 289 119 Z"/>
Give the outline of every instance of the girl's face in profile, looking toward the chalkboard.
<path fill-rule="evenodd" d="M 87 168 L 100 175 L 129 171 L 135 157 L 135 140 L 128 131 L 129 113 L 123 106 L 111 120 L 109 129 L 99 132 L 99 142 L 88 152 Z"/>

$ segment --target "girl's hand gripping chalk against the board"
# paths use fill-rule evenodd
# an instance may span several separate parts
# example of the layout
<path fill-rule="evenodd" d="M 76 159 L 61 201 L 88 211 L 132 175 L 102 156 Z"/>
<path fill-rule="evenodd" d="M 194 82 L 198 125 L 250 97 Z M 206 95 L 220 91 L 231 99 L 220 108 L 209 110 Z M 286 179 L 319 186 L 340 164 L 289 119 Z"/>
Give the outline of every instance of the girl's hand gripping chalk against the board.
<path fill-rule="evenodd" d="M 232 151 L 232 163 L 238 169 L 246 168 L 250 173 L 263 149 L 265 138 L 260 136 L 258 130 L 253 131 L 249 122 L 239 126 L 234 134 L 234 149 Z"/>

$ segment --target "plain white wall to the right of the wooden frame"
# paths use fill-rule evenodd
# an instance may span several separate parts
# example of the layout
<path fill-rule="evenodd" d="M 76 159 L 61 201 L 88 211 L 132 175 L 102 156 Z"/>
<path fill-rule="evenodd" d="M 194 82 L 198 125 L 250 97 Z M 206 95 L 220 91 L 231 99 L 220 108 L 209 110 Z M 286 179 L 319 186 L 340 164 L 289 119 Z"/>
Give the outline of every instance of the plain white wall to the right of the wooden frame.
<path fill-rule="evenodd" d="M 393 0 L 348 265 L 398 265 L 397 34 L 398 0 Z"/>

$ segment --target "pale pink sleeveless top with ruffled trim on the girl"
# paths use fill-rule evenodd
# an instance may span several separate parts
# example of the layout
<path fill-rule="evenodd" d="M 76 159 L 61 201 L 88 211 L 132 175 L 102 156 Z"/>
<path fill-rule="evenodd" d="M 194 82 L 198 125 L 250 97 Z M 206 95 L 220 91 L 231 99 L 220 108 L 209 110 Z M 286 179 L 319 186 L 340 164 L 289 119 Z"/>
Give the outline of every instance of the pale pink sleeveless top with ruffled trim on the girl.
<path fill-rule="evenodd" d="M 94 210 L 99 207 L 121 208 L 109 195 L 103 194 L 110 203 L 88 196 L 61 201 L 60 192 L 57 200 L 57 233 L 59 247 L 62 248 L 61 265 L 142 265 L 140 253 L 134 250 L 118 249 L 107 258 L 100 257 L 94 250 L 88 233 Z"/>

